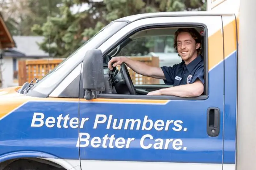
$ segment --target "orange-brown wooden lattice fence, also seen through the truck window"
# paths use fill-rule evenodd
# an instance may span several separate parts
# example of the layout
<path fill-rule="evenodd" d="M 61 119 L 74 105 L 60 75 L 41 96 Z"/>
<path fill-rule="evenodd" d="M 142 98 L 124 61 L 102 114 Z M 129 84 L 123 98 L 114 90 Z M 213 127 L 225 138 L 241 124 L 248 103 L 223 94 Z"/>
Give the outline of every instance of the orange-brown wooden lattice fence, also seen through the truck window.
<path fill-rule="evenodd" d="M 130 57 L 133 60 L 139 60 L 149 66 L 159 67 L 158 57 Z M 30 82 L 34 78 L 41 79 L 44 75 L 49 73 L 64 59 L 35 59 L 35 60 L 20 60 L 19 61 L 19 85 L 21 86 L 26 81 Z M 119 69 L 119 67 L 117 67 Z M 158 84 L 159 79 L 145 77 L 135 73 L 127 67 L 132 78 L 133 84 Z"/>

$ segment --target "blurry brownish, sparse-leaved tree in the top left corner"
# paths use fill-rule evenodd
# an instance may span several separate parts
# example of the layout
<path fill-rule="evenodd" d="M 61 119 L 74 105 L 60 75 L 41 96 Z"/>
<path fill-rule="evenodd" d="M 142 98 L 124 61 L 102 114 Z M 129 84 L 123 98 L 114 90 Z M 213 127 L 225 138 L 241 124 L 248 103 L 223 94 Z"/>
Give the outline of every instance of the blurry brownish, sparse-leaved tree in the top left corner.
<path fill-rule="evenodd" d="M 47 16 L 60 13 L 60 3 L 61 0 L 0 0 L 0 10 L 12 35 L 32 35 L 34 24 L 43 25 Z"/>

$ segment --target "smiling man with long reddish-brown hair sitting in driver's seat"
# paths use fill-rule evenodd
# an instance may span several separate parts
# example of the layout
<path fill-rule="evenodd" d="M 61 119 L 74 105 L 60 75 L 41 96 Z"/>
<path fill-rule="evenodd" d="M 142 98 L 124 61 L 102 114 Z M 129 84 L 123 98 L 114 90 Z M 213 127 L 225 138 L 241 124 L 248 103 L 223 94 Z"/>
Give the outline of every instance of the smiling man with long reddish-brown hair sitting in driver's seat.
<path fill-rule="evenodd" d="M 204 92 L 204 61 L 201 56 L 201 35 L 193 28 L 180 28 L 175 32 L 174 48 L 183 60 L 172 67 L 151 67 L 143 62 L 126 57 L 113 57 L 108 67 L 123 62 L 134 72 L 158 79 L 163 79 L 170 88 L 149 92 L 148 95 L 172 95 L 179 97 L 196 97 Z M 111 64 L 113 64 L 113 67 Z"/>

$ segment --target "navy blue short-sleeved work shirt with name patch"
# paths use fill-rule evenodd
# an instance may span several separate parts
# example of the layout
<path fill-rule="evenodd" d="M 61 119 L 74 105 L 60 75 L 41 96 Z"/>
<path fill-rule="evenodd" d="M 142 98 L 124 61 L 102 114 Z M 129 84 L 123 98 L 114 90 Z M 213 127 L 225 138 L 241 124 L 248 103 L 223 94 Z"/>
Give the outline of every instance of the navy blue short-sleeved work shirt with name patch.
<path fill-rule="evenodd" d="M 204 84 L 204 60 L 198 55 L 195 60 L 191 61 L 187 66 L 184 61 L 175 64 L 172 67 L 161 67 L 164 72 L 164 83 L 166 85 L 183 85 L 191 84 L 198 78 Z"/>

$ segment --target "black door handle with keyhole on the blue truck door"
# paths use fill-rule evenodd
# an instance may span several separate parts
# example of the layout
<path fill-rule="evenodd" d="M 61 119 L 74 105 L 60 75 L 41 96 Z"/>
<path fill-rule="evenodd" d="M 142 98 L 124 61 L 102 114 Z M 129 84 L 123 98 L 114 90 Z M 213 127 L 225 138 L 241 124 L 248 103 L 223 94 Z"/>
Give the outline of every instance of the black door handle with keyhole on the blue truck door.
<path fill-rule="evenodd" d="M 220 133 L 220 109 L 210 107 L 207 109 L 207 134 L 215 137 Z"/>

